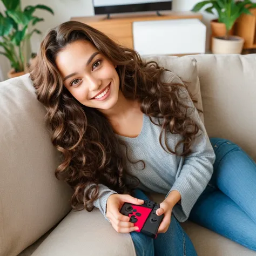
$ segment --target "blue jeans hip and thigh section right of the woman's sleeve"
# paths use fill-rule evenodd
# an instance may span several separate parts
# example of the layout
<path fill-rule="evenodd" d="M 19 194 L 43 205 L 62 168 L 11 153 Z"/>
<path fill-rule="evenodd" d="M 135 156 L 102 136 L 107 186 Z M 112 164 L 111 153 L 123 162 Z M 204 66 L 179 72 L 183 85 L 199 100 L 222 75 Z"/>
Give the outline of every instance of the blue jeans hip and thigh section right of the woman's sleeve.
<path fill-rule="evenodd" d="M 189 219 L 256 251 L 256 164 L 229 140 L 211 143 L 213 176 Z"/>

